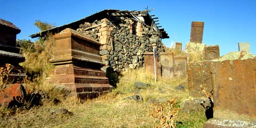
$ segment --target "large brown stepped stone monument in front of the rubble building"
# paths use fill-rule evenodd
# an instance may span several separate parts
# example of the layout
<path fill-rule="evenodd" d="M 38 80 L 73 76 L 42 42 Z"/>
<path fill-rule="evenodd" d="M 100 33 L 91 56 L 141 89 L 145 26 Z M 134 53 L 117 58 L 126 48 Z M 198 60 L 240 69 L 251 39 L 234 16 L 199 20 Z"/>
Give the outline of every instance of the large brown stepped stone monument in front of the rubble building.
<path fill-rule="evenodd" d="M 112 90 L 100 56 L 100 43 L 73 29 L 54 35 L 56 51 L 50 60 L 55 65 L 50 83 L 76 92 L 79 98 L 97 97 Z"/>

